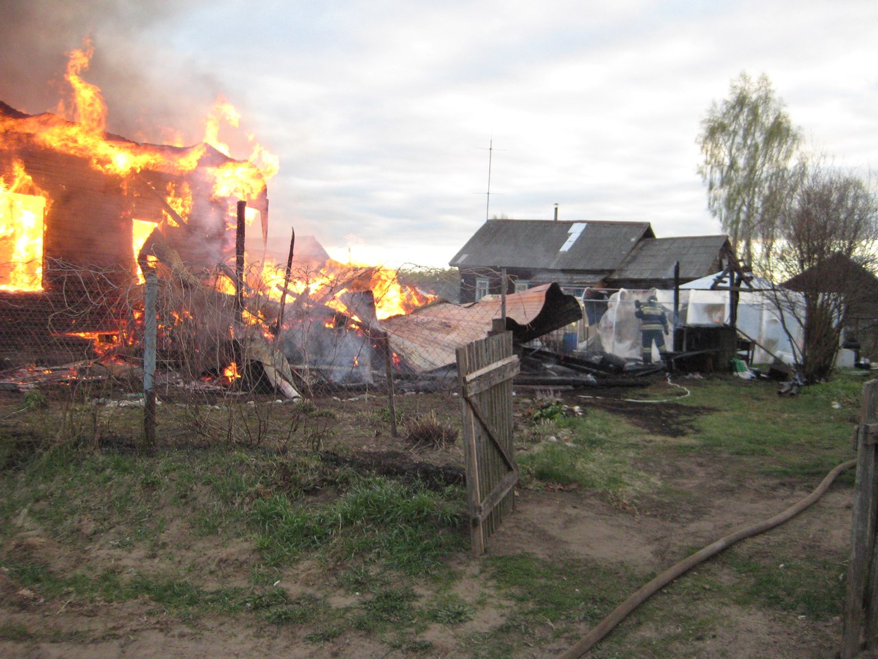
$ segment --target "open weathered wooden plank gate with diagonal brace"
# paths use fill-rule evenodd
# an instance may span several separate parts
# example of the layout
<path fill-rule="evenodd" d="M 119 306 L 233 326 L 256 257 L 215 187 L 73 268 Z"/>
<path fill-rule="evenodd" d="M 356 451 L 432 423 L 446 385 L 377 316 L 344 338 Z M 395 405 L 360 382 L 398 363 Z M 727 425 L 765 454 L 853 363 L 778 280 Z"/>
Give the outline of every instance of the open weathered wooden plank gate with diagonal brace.
<path fill-rule="evenodd" d="M 472 551 L 478 555 L 515 507 L 518 466 L 512 443 L 512 379 L 518 373 L 518 357 L 512 351 L 512 332 L 457 348 L 457 373 L 470 534 Z"/>

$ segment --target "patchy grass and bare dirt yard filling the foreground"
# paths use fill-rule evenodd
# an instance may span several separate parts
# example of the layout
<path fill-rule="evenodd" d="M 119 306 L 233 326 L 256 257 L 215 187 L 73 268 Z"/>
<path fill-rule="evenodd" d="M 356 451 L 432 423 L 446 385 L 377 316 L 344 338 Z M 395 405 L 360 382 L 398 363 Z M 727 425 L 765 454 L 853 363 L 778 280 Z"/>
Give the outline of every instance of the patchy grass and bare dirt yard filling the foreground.
<path fill-rule="evenodd" d="M 219 656 L 553 655 L 659 569 L 853 457 L 863 381 L 794 398 L 731 376 L 518 391 L 518 511 L 480 557 L 464 486 L 338 459 L 462 464 L 459 439 L 414 451 L 390 437 L 382 398 L 164 405 L 141 450 L 138 409 L 6 395 L 0 655 L 112 655 L 155 630 L 191 648 L 211 630 Z M 399 407 L 446 437 L 459 427 L 452 395 Z M 251 430 L 210 437 L 233 418 Z M 834 654 L 852 486 L 853 471 L 815 512 L 680 578 L 592 656 Z"/>

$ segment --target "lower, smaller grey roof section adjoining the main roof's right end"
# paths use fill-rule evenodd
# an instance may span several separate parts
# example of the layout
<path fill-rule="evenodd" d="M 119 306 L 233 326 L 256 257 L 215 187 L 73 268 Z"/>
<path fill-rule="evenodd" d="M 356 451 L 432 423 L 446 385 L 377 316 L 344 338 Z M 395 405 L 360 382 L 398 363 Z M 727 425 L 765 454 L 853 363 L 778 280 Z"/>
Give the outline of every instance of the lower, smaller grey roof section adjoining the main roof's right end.
<path fill-rule="evenodd" d="M 673 264 L 680 262 L 680 279 L 697 279 L 717 267 L 723 250 L 732 253 L 726 235 L 682 235 L 640 241 L 613 279 L 669 279 Z"/>

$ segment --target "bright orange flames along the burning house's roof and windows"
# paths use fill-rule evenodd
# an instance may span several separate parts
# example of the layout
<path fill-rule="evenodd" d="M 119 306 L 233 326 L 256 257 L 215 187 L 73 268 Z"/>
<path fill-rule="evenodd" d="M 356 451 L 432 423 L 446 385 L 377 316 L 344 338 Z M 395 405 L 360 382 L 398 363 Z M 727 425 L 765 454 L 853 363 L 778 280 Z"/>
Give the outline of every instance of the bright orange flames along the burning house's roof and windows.
<path fill-rule="evenodd" d="M 198 170 L 199 180 L 210 186 L 208 197 L 212 206 L 219 206 L 226 218 L 224 228 L 234 225 L 234 206 L 239 199 L 253 199 L 265 189 L 265 182 L 277 173 L 277 158 L 250 138 L 252 154 L 247 161 L 228 157 L 227 146 L 219 141 L 219 129 L 225 121 L 236 127 L 237 112 L 223 99 L 218 99 L 213 111 L 205 119 L 205 137 L 191 148 L 170 148 L 139 144 L 115 138 L 105 133 L 107 108 L 96 85 L 83 79 L 94 49 L 90 42 L 69 56 L 65 79 L 72 91 L 71 98 L 63 101 L 55 114 L 40 114 L 25 118 L 4 119 L 0 116 L 0 148 L 11 146 L 20 136 L 29 136 L 34 145 L 64 156 L 86 160 L 93 170 L 110 177 L 119 177 L 126 190 L 150 185 L 142 177 L 148 172 L 170 177 L 162 190 L 155 194 L 173 211 L 165 213 L 162 222 L 170 227 L 180 218 L 191 217 L 195 201 L 191 185 L 184 177 Z M 209 149 L 219 151 L 222 158 L 212 157 Z M 43 219 L 52 199 L 36 189 L 23 163 L 16 163 L 14 176 L 0 181 L 0 287 L 3 290 L 39 291 L 42 270 Z M 12 197 L 11 195 L 18 195 Z M 140 192 L 139 192 L 140 194 Z M 34 199 L 25 199 L 30 195 Z M 247 219 L 252 223 L 260 213 L 248 207 Z M 132 252 L 136 259 L 140 248 L 157 221 L 132 217 Z M 151 225 L 151 226 L 149 226 Z"/>

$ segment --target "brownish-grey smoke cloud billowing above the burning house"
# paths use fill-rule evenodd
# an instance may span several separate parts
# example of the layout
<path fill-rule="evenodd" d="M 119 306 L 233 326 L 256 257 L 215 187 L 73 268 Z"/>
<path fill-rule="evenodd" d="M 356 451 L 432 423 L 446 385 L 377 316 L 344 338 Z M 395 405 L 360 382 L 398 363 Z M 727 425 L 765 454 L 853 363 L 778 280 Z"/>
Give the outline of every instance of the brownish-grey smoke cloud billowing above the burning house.
<path fill-rule="evenodd" d="M 140 141 L 185 143 L 221 84 L 162 43 L 162 26 L 204 0 L 4 0 L 0 19 L 0 100 L 24 112 L 54 111 L 69 94 L 67 54 L 90 37 L 95 54 L 84 77 L 104 93 L 107 128 Z"/>

